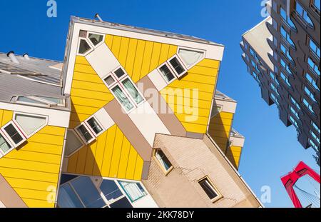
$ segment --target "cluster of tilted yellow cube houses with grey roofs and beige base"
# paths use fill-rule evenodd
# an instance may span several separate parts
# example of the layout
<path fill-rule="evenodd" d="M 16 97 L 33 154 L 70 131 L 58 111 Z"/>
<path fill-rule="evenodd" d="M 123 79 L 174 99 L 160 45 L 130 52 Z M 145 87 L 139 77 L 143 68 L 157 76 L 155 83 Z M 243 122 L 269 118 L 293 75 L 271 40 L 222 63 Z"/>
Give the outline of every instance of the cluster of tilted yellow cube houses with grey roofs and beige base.
<path fill-rule="evenodd" d="M 0 54 L 0 206 L 260 207 L 224 46 L 71 18 L 63 63 Z"/>

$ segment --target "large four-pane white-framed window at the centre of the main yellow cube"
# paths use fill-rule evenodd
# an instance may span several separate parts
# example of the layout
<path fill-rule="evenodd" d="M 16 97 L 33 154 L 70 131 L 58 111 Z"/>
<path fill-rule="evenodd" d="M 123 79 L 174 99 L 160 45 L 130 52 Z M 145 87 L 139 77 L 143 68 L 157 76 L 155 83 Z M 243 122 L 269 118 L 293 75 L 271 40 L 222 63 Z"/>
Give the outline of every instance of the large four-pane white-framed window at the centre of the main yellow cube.
<path fill-rule="evenodd" d="M 137 86 L 133 84 L 133 81 L 131 81 L 131 78 L 122 67 L 118 67 L 118 69 L 111 72 L 111 74 L 108 74 L 104 78 L 104 82 L 118 103 L 120 103 L 127 112 L 138 107 L 138 105 L 145 101 L 141 92 L 138 91 Z"/>

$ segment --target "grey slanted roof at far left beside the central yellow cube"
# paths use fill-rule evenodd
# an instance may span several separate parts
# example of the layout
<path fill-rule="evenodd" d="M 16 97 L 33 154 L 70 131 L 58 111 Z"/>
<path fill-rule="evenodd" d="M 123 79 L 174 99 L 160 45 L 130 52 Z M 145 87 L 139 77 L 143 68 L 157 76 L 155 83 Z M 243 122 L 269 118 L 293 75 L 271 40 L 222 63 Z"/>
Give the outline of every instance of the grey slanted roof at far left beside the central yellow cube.
<path fill-rule="evenodd" d="M 54 79 L 62 79 L 60 70 L 49 67 L 60 64 L 61 62 L 59 61 L 36 59 L 33 57 L 26 60 L 23 56 L 17 55 L 16 59 L 18 59 L 20 64 L 14 64 L 6 54 L 0 53 L 1 64 L 8 64 L 19 69 L 44 74 Z M 63 99 L 65 96 L 63 96 L 61 89 L 62 86 L 44 84 L 16 74 L 5 74 L 0 71 L 0 101 L 11 102 L 14 96 L 54 96 Z"/>

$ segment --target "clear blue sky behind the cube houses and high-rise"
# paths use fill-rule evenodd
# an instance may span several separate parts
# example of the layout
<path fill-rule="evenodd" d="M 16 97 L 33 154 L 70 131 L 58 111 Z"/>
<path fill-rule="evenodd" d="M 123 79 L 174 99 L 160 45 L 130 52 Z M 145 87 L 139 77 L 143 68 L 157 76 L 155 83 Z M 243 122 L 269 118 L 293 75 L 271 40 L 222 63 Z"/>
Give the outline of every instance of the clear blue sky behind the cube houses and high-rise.
<path fill-rule="evenodd" d="M 0 1 L 0 51 L 28 52 L 30 56 L 63 60 L 71 15 L 173 31 L 224 44 L 218 89 L 238 101 L 234 128 L 246 137 L 240 173 L 260 197 L 270 186 L 272 203 L 267 207 L 292 207 L 280 176 L 303 160 L 317 165 L 312 151 L 296 140 L 295 129 L 286 128 L 275 106 L 268 107 L 260 88 L 241 59 L 241 35 L 263 18 L 260 0 L 57 0 L 58 17 L 46 16 L 46 0 Z"/>

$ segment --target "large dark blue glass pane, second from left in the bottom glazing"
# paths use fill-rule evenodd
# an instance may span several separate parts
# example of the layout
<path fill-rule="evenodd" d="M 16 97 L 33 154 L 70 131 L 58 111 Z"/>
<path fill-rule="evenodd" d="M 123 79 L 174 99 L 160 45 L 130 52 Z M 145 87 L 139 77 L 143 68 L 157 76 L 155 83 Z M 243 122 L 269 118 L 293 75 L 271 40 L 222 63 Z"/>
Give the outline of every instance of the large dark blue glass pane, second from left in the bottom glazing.
<path fill-rule="evenodd" d="M 75 189 L 83 204 L 88 208 L 101 208 L 106 206 L 97 188 L 93 185 L 91 178 L 80 176 L 71 181 L 71 186 Z"/>

